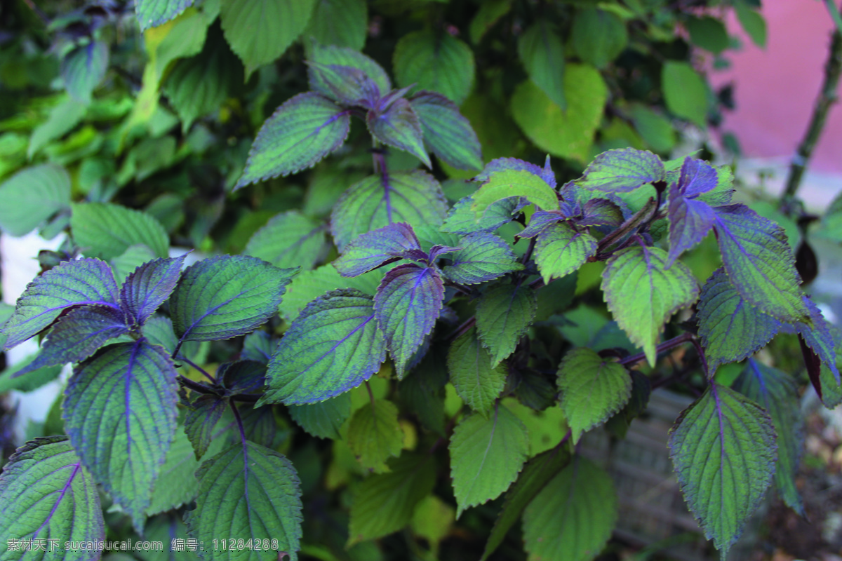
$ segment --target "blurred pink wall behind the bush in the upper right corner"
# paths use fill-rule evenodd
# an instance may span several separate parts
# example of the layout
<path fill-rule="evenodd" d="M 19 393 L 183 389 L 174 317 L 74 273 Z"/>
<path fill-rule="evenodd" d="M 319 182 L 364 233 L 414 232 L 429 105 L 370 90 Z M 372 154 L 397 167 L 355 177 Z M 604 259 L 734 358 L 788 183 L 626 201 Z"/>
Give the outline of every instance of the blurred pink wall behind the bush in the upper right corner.
<path fill-rule="evenodd" d="M 733 81 L 737 108 L 726 112 L 723 130 L 733 131 L 745 156 L 791 156 L 801 141 L 821 87 L 833 22 L 818 0 L 765 0 L 765 50 L 743 34 L 735 17 L 728 31 L 743 50 L 727 52 L 732 66 L 713 71 L 715 87 Z M 813 151 L 810 169 L 842 173 L 842 108 L 834 105 Z"/>

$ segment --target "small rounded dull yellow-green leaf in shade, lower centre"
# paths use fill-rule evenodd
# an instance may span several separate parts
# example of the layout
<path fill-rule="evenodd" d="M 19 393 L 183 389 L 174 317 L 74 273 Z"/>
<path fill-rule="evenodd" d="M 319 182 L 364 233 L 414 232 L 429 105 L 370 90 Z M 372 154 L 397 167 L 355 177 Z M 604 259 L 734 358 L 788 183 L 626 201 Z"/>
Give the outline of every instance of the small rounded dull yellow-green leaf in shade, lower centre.
<path fill-rule="evenodd" d="M 364 468 L 376 474 L 389 471 L 386 460 L 399 455 L 403 447 L 395 404 L 374 400 L 354 411 L 348 426 L 348 446 Z"/>

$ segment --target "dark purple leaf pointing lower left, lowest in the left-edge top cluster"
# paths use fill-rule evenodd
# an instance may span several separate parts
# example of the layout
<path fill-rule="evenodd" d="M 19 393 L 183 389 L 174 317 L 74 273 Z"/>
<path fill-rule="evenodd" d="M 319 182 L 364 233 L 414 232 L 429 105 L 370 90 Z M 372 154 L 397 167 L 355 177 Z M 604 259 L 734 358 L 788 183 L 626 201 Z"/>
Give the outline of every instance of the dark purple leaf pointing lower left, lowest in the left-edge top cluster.
<path fill-rule="evenodd" d="M 62 316 L 41 343 L 35 360 L 14 376 L 47 366 L 79 363 L 90 357 L 105 341 L 129 332 L 123 312 L 107 306 L 84 306 Z"/>

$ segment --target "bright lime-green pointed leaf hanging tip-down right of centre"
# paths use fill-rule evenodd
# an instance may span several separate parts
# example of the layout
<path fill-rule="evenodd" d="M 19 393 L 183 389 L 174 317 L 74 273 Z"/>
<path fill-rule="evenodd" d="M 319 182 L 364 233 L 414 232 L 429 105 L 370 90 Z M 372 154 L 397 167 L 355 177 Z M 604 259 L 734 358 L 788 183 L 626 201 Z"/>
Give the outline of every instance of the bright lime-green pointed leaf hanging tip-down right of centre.
<path fill-rule="evenodd" d="M 663 324 L 699 296 L 690 269 L 681 262 L 668 269 L 667 259 L 667 252 L 658 247 L 634 246 L 611 257 L 602 273 L 608 309 L 652 366 Z"/>

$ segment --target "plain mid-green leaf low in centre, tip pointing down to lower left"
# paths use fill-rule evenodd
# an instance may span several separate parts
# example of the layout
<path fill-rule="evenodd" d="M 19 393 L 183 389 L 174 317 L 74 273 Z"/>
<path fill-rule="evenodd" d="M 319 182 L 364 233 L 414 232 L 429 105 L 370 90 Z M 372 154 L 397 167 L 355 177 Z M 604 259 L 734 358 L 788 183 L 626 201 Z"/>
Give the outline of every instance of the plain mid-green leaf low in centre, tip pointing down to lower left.
<path fill-rule="evenodd" d="M 467 508 L 509 489 L 526 461 L 529 437 L 520 419 L 497 405 L 488 418 L 474 414 L 462 419 L 449 449 L 458 518 Z"/>

